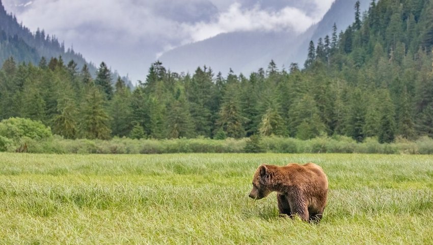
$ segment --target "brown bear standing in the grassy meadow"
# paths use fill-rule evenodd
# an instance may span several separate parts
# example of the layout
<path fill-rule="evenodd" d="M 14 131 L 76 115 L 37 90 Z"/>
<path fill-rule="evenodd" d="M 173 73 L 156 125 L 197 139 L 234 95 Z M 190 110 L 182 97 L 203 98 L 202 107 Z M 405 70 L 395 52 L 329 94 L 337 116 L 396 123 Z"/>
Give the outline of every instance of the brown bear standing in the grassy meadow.
<path fill-rule="evenodd" d="M 280 215 L 297 214 L 304 221 L 318 223 L 326 206 L 328 178 L 313 163 L 261 165 L 254 174 L 249 197 L 258 200 L 272 192 L 277 192 Z"/>

